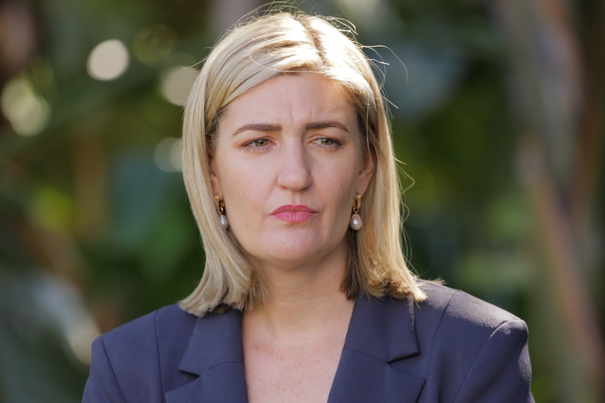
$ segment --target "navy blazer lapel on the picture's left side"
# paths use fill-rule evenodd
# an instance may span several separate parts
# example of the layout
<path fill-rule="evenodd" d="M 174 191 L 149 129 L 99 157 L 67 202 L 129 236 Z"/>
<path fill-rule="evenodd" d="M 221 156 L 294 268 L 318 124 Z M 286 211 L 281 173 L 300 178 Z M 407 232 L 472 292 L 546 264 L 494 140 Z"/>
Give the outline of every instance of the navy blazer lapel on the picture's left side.
<path fill-rule="evenodd" d="M 178 369 L 199 377 L 167 392 L 166 403 L 248 402 L 241 312 L 199 318 Z"/>

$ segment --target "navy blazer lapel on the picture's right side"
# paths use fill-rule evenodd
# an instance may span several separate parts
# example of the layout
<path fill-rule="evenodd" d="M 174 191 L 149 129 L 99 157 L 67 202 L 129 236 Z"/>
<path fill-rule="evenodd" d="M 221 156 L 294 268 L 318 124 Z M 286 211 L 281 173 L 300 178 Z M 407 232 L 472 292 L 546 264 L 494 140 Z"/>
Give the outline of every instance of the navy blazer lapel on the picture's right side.
<path fill-rule="evenodd" d="M 425 379 L 391 365 L 416 354 L 413 301 L 360 297 L 328 403 L 416 402 Z"/>

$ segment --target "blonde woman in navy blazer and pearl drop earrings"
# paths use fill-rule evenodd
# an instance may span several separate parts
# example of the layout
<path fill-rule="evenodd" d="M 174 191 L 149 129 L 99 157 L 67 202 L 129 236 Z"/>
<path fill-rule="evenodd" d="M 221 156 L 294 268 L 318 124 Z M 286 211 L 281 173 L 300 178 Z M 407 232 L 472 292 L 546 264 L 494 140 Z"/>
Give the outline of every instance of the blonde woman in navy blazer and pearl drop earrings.
<path fill-rule="evenodd" d="M 390 125 L 361 46 L 273 13 L 185 107 L 197 289 L 93 343 L 84 402 L 531 402 L 523 321 L 401 252 Z"/>

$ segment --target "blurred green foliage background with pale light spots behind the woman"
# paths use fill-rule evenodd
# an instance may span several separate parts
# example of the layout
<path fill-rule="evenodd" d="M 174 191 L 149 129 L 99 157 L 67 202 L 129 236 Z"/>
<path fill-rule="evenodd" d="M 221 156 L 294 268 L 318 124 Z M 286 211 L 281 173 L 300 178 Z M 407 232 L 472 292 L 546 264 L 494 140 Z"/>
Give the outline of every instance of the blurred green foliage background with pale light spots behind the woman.
<path fill-rule="evenodd" d="M 196 285 L 182 101 L 262 3 L 0 0 L 0 402 L 79 402 L 93 337 Z M 537 402 L 603 402 L 605 2 L 300 8 L 376 46 L 415 271 L 528 322 Z"/>

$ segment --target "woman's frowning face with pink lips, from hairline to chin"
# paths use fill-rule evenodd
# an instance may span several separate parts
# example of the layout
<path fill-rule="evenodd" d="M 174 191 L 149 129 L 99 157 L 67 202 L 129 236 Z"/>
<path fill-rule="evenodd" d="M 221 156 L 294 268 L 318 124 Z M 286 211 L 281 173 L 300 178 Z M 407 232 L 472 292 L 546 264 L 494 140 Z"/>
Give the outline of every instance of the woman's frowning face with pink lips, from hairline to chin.
<path fill-rule="evenodd" d="M 262 269 L 345 259 L 357 193 L 373 174 L 354 106 L 319 74 L 271 78 L 225 108 L 213 191 L 230 228 Z"/>

